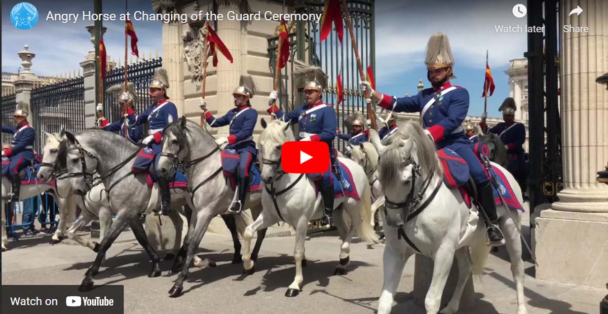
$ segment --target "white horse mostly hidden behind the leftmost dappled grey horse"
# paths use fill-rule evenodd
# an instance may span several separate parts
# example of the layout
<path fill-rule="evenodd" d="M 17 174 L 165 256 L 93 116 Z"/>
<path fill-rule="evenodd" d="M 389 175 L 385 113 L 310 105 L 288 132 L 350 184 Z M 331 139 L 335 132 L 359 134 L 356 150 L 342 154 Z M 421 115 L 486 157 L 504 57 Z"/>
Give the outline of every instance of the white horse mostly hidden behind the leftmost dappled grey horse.
<path fill-rule="evenodd" d="M 78 196 L 74 194 L 72 191 L 72 186 L 69 183 L 69 180 L 60 179 L 57 180 L 57 177 L 60 175 L 60 169 L 58 169 L 57 163 L 57 155 L 58 149 L 61 142 L 66 140 L 65 132 L 61 130 L 59 133 L 49 134 L 46 133 L 46 144 L 43 148 L 43 160 L 41 162 L 40 170 L 38 171 L 38 179 L 43 180 L 44 182 L 49 182 L 50 180 L 55 180 L 57 185 L 63 186 L 64 191 L 68 191 L 66 195 L 60 195 L 59 197 L 72 198 L 76 202 L 76 204 L 80 207 L 80 216 L 72 224 L 72 226 L 67 230 L 67 236 L 76 241 L 78 244 L 83 245 L 83 247 L 88 247 L 91 250 L 97 252 L 99 250 L 99 244 L 95 241 L 88 241 L 85 237 L 78 236 L 76 231 L 90 224 L 92 220 L 99 217 L 100 222 L 100 239 L 105 237 L 105 234 L 108 232 L 109 227 L 112 225 L 112 215 L 116 214 L 112 211 L 112 208 L 109 205 L 108 197 L 105 193 L 105 185 L 100 183 L 94 186 L 85 196 Z M 60 176 L 59 176 L 60 177 Z M 176 241 L 174 241 L 173 248 L 168 252 L 167 257 L 165 259 L 171 259 L 172 256 L 176 256 L 181 246 L 181 233 L 183 228 L 183 222 L 181 217 L 179 217 L 179 213 L 183 214 L 185 217 L 190 217 L 189 208 L 186 209 L 188 213 L 185 213 L 182 206 L 186 204 L 186 196 L 188 193 L 185 191 L 178 191 L 176 189 L 171 189 L 171 214 L 169 216 L 171 220 L 171 224 L 175 227 L 176 230 Z M 66 223 L 71 220 L 71 217 L 74 217 L 74 213 L 67 213 L 67 211 L 60 210 L 60 224 L 57 226 L 57 231 L 53 234 L 52 242 L 54 244 L 60 242 L 63 239 L 63 234 L 66 234 Z M 150 216 L 149 219 L 156 219 Z M 202 265 L 203 262 L 198 256 L 195 257 L 195 265 Z"/>

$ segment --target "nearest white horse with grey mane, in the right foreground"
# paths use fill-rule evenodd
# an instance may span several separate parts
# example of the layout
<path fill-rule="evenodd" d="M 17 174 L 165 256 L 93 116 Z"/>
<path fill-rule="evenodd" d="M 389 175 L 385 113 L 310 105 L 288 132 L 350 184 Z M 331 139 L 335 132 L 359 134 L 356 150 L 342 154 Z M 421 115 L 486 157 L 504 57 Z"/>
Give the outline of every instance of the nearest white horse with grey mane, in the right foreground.
<path fill-rule="evenodd" d="M 455 313 L 471 270 L 476 275 L 483 272 L 490 250 L 485 223 L 483 219 L 476 221 L 476 211 L 469 211 L 458 189 L 449 189 L 443 184 L 443 171 L 435 145 L 418 123 L 407 122 L 401 126 L 398 140 L 388 146 L 382 145 L 377 132 L 370 130 L 370 134 L 371 142 L 382 156 L 378 174 L 386 197 L 388 217 L 383 217 L 384 221 L 387 222 L 388 219 L 395 222 L 400 215 L 403 222 L 402 232 L 398 228 L 384 228 L 384 285 L 378 313 L 390 313 L 403 267 L 407 259 L 416 253 L 434 261 L 432 281 L 424 300 L 426 312 L 432 314 L 440 310 L 441 295 L 452 261 L 456 257 L 459 271 L 457 286 L 451 301 L 441 311 L 446 314 Z M 517 200 L 522 203 L 522 193 L 513 176 L 502 167 L 496 164 L 493 166 L 503 171 Z M 420 194 L 420 201 L 412 198 Z M 420 208 L 426 210 L 420 211 Z M 522 215 L 517 210 L 510 211 L 508 213 L 504 206 L 498 208 L 499 224 L 505 234 L 506 248 L 511 258 L 511 271 L 517 291 L 517 314 L 525 314 L 522 249 L 517 230 Z M 408 214 L 411 217 L 408 218 Z M 399 233 L 407 241 L 399 239 Z"/>

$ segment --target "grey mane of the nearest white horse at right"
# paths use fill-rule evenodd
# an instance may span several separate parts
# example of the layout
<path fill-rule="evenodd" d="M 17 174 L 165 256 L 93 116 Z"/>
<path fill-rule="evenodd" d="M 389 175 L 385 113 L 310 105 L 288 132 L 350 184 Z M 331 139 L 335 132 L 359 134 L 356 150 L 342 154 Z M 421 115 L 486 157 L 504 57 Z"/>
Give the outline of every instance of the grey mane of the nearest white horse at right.
<path fill-rule="evenodd" d="M 435 143 L 424 133 L 422 126 L 415 121 L 406 121 L 399 126 L 395 134 L 395 140 L 387 146 L 382 153 L 381 163 L 378 165 L 379 179 L 383 186 L 389 186 L 397 182 L 399 173 L 395 169 L 401 168 L 403 155 L 411 154 L 411 151 L 403 151 L 404 140 L 413 140 L 413 145 L 418 150 L 418 164 L 424 175 L 443 176 L 443 168 L 437 157 Z"/>

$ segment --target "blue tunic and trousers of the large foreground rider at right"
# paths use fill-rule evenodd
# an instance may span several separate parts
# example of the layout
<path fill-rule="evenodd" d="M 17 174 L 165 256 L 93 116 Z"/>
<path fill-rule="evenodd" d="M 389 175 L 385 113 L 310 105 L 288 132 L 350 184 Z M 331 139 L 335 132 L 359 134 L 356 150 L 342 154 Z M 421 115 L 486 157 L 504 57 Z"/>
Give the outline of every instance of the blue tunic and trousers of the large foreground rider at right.
<path fill-rule="evenodd" d="M 382 95 L 379 105 L 395 112 L 421 112 L 423 127 L 430 132 L 437 147 L 447 147 L 465 159 L 475 183 L 488 182 L 488 173 L 471 150 L 469 138 L 461 126 L 469 111 L 466 89 L 452 86 L 448 81 L 437 89 L 423 89 L 413 97 Z"/>

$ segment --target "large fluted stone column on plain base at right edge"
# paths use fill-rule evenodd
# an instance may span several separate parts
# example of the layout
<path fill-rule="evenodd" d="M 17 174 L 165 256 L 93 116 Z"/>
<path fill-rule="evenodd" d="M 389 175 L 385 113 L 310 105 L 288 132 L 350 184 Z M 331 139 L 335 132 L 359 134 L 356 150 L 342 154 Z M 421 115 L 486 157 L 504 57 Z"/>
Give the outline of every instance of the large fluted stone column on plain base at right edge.
<path fill-rule="evenodd" d="M 595 78 L 608 72 L 608 3 L 561 0 L 562 21 L 589 33 L 564 33 L 561 46 L 561 116 L 564 190 L 536 223 L 536 276 L 603 287 L 608 278 L 608 185 L 595 181 L 608 160 L 608 92 Z M 561 29 L 560 27 L 559 29 Z"/>

